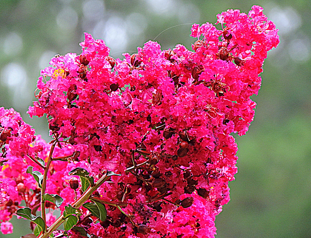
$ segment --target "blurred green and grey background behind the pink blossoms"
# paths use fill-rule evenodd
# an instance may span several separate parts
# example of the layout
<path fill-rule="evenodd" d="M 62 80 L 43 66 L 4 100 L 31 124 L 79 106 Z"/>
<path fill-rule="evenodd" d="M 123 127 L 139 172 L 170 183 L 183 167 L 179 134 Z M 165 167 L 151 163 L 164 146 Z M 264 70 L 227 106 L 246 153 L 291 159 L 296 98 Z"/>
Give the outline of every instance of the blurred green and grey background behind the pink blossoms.
<path fill-rule="evenodd" d="M 231 201 L 216 218 L 216 238 L 311 237 L 310 1 L 222 0 L 0 0 L 0 106 L 13 107 L 48 137 L 45 119 L 30 119 L 28 106 L 40 69 L 55 54 L 81 53 L 83 32 L 102 38 L 113 57 L 136 51 L 163 30 L 216 22 L 229 8 L 248 12 L 260 5 L 280 29 L 281 43 L 268 54 L 256 116 L 237 138 L 239 173 Z M 191 25 L 160 34 L 162 49 L 188 49 Z M 1 212 L 1 211 L 0 211 Z M 14 233 L 30 233 L 13 219 Z"/>

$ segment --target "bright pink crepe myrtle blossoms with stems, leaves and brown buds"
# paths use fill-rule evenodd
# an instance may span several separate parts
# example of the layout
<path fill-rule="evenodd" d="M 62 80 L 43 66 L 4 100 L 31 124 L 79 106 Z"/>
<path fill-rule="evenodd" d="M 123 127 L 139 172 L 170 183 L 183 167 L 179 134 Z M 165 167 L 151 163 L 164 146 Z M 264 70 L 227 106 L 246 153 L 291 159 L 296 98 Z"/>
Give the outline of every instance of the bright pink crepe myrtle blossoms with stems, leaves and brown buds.
<path fill-rule="evenodd" d="M 279 43 L 262 11 L 194 24 L 192 50 L 149 41 L 114 59 L 86 33 L 81 55 L 52 58 L 28 111 L 47 116 L 51 142 L 0 108 L 2 233 L 16 214 L 34 237 L 213 237 L 237 172 L 231 134 L 247 132 Z"/>

